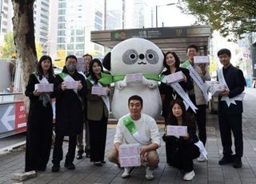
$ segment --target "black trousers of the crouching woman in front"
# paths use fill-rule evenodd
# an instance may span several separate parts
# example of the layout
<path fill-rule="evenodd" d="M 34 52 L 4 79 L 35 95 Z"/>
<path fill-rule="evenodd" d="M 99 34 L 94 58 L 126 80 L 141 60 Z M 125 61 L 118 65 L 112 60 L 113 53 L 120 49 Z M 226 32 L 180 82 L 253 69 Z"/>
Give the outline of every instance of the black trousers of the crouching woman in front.
<path fill-rule="evenodd" d="M 181 138 L 178 139 L 175 146 L 173 143 L 170 141 L 170 147 L 173 149 L 170 155 L 170 165 L 177 167 L 179 170 L 184 170 L 186 173 L 194 170 L 193 159 L 198 158 L 200 155 L 198 146 Z"/>

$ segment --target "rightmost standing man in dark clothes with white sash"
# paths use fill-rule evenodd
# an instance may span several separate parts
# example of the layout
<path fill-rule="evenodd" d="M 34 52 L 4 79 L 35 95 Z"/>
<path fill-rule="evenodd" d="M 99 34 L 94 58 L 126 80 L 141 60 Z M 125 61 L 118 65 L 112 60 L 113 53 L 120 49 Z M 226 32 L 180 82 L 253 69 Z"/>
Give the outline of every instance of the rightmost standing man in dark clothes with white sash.
<path fill-rule="evenodd" d="M 218 94 L 218 123 L 222 138 L 223 157 L 220 165 L 233 162 L 234 168 L 242 167 L 242 91 L 246 86 L 242 70 L 230 63 L 230 50 L 218 50 L 222 69 L 218 70 L 218 81 L 225 84 L 226 90 Z M 232 155 L 231 131 L 234 134 L 235 154 Z"/>

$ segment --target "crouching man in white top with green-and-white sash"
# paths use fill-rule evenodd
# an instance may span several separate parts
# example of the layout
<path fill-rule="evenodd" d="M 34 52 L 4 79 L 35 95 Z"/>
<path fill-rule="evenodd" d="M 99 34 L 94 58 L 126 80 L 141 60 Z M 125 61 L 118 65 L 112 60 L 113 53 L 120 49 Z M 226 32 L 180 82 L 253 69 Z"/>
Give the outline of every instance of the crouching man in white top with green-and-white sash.
<path fill-rule="evenodd" d="M 146 166 L 146 180 L 154 179 L 153 170 L 158 166 L 157 149 L 160 147 L 161 137 L 158 126 L 147 114 L 142 114 L 143 101 L 138 95 L 128 99 L 130 113 L 119 118 L 114 135 L 114 149 L 110 150 L 108 159 L 120 166 L 120 146 L 123 144 L 140 144 L 142 165 Z M 122 155 L 121 155 L 122 156 Z M 122 178 L 129 178 L 134 167 L 124 167 Z"/>

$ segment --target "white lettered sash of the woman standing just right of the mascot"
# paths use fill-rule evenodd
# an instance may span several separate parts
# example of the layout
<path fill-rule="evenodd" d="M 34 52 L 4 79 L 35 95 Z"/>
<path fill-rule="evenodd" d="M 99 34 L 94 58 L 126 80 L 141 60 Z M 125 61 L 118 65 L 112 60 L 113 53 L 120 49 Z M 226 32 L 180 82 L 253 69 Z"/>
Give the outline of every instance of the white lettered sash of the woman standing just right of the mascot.
<path fill-rule="evenodd" d="M 162 78 L 161 82 L 166 83 L 166 76 L 162 75 L 161 78 Z M 186 109 L 188 109 L 188 107 L 190 106 L 191 110 L 193 110 L 194 113 L 196 113 L 195 110 L 198 110 L 198 108 L 196 106 L 194 106 L 193 102 L 191 102 L 189 95 L 186 93 L 185 90 L 183 90 L 182 86 L 178 82 L 170 83 L 170 86 L 183 99 Z"/>

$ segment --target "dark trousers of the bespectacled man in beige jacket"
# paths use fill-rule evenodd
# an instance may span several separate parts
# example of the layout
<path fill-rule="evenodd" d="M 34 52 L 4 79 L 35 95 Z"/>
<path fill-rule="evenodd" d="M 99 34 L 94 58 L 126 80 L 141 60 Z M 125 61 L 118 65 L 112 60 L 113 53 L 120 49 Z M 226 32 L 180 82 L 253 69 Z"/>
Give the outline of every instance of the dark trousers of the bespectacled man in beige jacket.
<path fill-rule="evenodd" d="M 198 105 L 197 107 L 195 117 L 198 124 L 198 138 L 206 146 L 206 105 Z"/>

